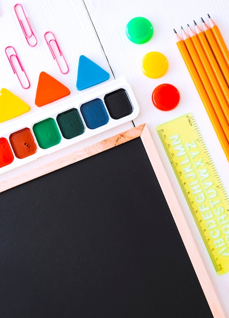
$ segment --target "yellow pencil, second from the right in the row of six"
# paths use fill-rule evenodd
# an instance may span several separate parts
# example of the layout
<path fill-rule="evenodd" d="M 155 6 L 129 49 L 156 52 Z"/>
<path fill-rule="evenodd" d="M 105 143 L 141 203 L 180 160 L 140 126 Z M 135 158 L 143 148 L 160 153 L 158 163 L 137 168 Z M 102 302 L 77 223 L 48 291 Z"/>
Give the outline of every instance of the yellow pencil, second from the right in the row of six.
<path fill-rule="evenodd" d="M 202 19 L 202 18 L 201 18 Z M 204 33 L 206 35 L 206 38 L 208 40 L 208 43 L 212 49 L 212 52 L 214 53 L 215 55 L 215 58 L 219 64 L 219 67 L 220 67 L 220 70 L 222 71 L 222 74 L 224 75 L 225 77 L 225 80 L 227 82 L 227 85 L 229 85 L 229 68 L 228 68 L 228 65 L 221 53 L 221 50 L 218 46 L 218 43 L 216 42 L 215 40 L 215 37 L 212 33 L 212 30 L 207 26 L 207 24 L 205 23 L 205 21 L 202 19 L 202 25 L 203 25 L 203 30 L 204 30 Z"/>

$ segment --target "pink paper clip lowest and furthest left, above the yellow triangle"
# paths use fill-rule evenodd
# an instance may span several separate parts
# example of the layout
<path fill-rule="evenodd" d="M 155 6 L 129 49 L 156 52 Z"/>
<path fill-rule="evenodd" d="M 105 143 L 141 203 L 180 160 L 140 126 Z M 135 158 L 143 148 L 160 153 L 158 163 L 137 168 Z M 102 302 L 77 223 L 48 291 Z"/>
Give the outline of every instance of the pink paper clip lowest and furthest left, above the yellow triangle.
<path fill-rule="evenodd" d="M 29 88 L 29 86 L 30 86 L 29 80 L 27 78 L 27 75 L 26 75 L 23 67 L 22 67 L 22 64 L 19 60 L 19 57 L 18 57 L 15 49 L 12 46 L 8 46 L 5 49 L 5 52 L 7 54 L 8 59 L 9 59 L 10 65 L 14 71 L 14 74 L 17 75 L 21 86 L 25 89 Z"/>

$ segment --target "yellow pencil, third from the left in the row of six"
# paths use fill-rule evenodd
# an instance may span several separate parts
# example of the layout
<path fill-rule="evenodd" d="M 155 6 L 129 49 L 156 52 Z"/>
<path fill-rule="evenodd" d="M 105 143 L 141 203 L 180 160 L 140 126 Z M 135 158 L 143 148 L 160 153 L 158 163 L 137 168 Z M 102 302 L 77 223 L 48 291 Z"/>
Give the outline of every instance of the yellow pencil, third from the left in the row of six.
<path fill-rule="evenodd" d="M 190 35 L 190 39 L 194 45 L 195 50 L 197 51 L 197 54 L 201 60 L 202 66 L 207 74 L 208 80 L 211 83 L 212 89 L 215 93 L 215 96 L 219 102 L 219 105 L 223 111 L 224 116 L 226 117 L 227 124 L 229 123 L 229 108 L 228 104 L 223 96 L 223 93 L 221 91 L 221 88 L 219 86 L 219 83 L 215 77 L 214 72 L 212 71 L 211 65 L 207 59 L 207 56 L 204 52 L 203 47 L 201 46 L 201 43 L 197 37 L 197 35 L 194 34 L 193 30 L 188 25 L 188 31 Z"/>

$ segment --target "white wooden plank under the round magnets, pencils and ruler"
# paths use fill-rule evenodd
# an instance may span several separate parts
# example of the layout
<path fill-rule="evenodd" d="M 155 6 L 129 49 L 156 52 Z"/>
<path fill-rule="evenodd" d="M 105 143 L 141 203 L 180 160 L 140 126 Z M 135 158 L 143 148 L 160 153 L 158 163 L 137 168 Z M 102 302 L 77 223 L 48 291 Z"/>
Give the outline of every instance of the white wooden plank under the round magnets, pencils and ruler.
<path fill-rule="evenodd" d="M 163 166 L 166 168 L 172 187 L 179 199 L 183 214 L 188 221 L 192 236 L 198 245 L 198 249 L 202 255 L 206 270 L 211 277 L 221 306 L 226 313 L 225 315 L 229 316 L 229 275 L 223 275 L 224 277 L 222 279 L 214 272 L 211 260 L 203 246 L 202 239 L 190 215 L 189 208 L 172 167 L 156 135 L 156 126 L 158 124 L 191 112 L 197 121 L 226 192 L 229 193 L 227 174 L 229 163 L 223 153 L 198 92 L 188 74 L 188 70 L 176 46 L 173 34 L 173 28 L 180 34 L 181 25 L 185 30 L 187 30 L 187 24 L 193 26 L 193 20 L 201 26 L 201 17 L 208 22 L 207 14 L 209 13 L 218 25 L 227 46 L 229 46 L 229 38 L 227 36 L 228 3 L 225 0 L 219 2 L 213 0 L 203 0 L 201 2 L 198 0 L 193 0 L 192 2 L 182 2 L 180 0 L 173 2 L 166 0 L 152 2 L 143 0 L 141 2 L 132 2 L 130 5 L 127 0 L 117 0 L 109 3 L 100 0 L 85 0 L 85 4 L 114 76 L 118 77 L 120 74 L 124 74 L 133 87 L 141 107 L 140 115 L 134 121 L 135 125 L 141 122 L 147 124 Z M 143 45 L 136 45 L 130 42 L 125 34 L 128 21 L 137 16 L 143 16 L 149 19 L 154 27 L 152 39 Z M 143 56 L 150 51 L 159 51 L 168 58 L 169 69 L 165 76 L 158 79 L 151 79 L 142 73 L 141 60 Z M 170 83 L 176 86 L 180 92 L 180 103 L 172 111 L 161 112 L 152 104 L 151 95 L 153 89 L 161 83 Z M 215 312 L 215 316 L 220 317 L 220 314 Z"/>

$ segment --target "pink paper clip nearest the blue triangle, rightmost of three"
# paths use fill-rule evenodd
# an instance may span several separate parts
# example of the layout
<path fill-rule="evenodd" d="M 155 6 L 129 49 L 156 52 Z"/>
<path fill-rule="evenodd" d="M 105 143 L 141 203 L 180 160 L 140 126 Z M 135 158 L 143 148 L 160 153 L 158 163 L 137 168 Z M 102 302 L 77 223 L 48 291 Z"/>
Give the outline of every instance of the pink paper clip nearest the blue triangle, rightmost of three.
<path fill-rule="evenodd" d="M 45 33 L 45 40 L 48 44 L 48 47 L 52 53 L 53 58 L 56 60 L 59 70 L 62 74 L 67 74 L 69 72 L 69 67 L 64 58 L 60 47 L 56 41 L 54 34 L 51 31 Z"/>

